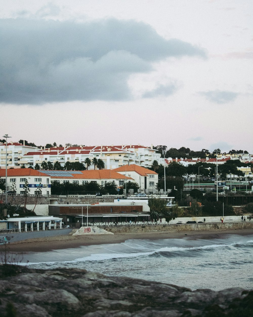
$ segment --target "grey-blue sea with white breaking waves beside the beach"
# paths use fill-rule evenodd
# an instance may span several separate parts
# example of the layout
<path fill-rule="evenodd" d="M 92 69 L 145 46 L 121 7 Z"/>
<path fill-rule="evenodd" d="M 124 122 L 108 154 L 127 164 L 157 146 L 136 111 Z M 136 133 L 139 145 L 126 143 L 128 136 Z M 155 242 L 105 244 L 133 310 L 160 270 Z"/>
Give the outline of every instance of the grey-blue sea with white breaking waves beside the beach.
<path fill-rule="evenodd" d="M 29 261 L 27 263 L 27 261 Z M 84 268 L 111 276 L 190 288 L 253 289 L 253 235 L 223 239 L 131 239 L 124 243 L 82 246 L 24 254 L 31 268 Z"/>

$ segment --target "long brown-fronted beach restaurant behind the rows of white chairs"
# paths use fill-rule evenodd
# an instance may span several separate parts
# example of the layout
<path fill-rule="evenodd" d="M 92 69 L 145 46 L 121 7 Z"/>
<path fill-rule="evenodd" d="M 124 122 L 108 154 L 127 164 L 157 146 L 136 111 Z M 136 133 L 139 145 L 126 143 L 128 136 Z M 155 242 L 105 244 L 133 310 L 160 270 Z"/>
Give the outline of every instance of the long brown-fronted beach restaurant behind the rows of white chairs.
<path fill-rule="evenodd" d="M 143 212 L 142 205 L 83 204 L 49 205 L 48 214 L 62 217 L 67 225 L 80 227 L 82 223 L 138 222 L 148 221 L 149 213 Z"/>

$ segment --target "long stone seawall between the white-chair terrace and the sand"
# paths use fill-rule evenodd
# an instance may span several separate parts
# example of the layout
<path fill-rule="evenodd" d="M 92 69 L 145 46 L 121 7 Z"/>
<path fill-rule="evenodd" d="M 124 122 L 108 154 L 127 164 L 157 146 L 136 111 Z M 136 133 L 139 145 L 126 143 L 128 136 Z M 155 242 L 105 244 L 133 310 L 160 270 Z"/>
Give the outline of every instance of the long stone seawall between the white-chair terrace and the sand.
<path fill-rule="evenodd" d="M 187 230 L 220 230 L 220 229 L 245 229 L 251 228 L 252 222 L 240 223 L 191 223 L 191 224 L 170 224 L 158 226 L 127 226 L 127 227 L 104 227 L 105 230 L 117 233 L 151 232 L 151 231 L 187 231 Z"/>

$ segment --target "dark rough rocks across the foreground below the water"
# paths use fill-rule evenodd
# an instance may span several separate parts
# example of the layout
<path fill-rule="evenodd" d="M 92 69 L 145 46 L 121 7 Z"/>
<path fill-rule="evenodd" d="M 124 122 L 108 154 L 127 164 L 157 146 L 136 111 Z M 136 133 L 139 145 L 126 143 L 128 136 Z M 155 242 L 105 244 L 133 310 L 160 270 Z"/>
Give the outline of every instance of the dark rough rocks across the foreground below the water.
<path fill-rule="evenodd" d="M 191 291 L 79 269 L 0 270 L 3 317 L 253 316 L 253 291 L 242 288 Z"/>

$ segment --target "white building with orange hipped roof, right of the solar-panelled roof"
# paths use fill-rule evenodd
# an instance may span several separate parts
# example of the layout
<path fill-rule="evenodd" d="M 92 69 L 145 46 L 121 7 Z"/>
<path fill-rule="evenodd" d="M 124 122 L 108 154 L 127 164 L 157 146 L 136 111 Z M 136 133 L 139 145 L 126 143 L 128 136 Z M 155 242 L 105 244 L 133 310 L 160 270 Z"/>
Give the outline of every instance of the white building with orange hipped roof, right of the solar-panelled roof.
<path fill-rule="evenodd" d="M 125 177 L 133 178 L 134 182 L 139 185 L 140 192 L 145 192 L 145 194 L 148 195 L 156 193 L 156 185 L 158 182 L 158 174 L 156 172 L 135 164 L 121 166 L 114 169 L 114 171 Z"/>

